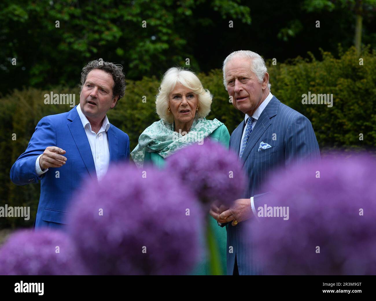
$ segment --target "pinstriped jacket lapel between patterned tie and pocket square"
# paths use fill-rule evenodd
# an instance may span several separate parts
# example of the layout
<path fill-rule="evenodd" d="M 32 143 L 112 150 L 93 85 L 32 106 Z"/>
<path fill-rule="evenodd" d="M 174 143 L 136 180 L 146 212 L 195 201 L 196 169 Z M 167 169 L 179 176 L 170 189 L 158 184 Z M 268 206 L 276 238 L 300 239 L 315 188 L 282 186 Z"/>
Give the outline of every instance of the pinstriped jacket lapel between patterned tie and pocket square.
<path fill-rule="evenodd" d="M 279 103 L 280 101 L 277 100 L 275 96 L 273 96 L 268 105 L 262 111 L 260 118 L 256 122 L 255 128 L 252 129 L 252 133 L 248 138 L 246 148 L 243 152 L 243 156 L 241 156 L 242 166 L 244 165 L 244 163 L 246 163 L 247 157 L 251 153 L 253 147 L 255 147 L 256 142 L 260 139 L 262 134 L 264 134 L 266 129 L 270 126 L 270 118 L 277 115 Z"/>

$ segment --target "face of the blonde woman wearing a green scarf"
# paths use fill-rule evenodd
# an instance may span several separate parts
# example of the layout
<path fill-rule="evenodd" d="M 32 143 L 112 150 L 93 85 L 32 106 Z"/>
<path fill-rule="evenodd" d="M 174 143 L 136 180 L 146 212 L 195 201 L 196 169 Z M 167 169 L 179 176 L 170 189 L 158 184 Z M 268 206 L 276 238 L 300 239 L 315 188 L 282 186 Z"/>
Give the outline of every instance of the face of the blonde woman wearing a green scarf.
<path fill-rule="evenodd" d="M 194 119 L 198 103 L 197 94 L 177 83 L 168 95 L 168 104 L 175 123 L 187 123 Z"/>

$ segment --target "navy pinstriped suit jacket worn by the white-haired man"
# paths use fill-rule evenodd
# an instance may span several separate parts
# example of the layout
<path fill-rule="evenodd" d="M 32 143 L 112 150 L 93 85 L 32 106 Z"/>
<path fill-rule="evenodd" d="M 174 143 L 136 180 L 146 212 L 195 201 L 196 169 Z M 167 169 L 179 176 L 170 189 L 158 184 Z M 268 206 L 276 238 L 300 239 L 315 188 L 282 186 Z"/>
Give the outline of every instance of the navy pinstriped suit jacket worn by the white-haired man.
<path fill-rule="evenodd" d="M 237 155 L 240 152 L 244 127 L 243 120 L 230 137 L 229 148 Z M 261 141 L 269 144 L 271 148 L 258 151 Z M 238 197 L 254 197 L 257 209 L 258 206 L 263 206 L 262 198 L 267 192 L 261 191 L 262 186 L 273 172 L 285 169 L 299 160 L 317 159 L 320 159 L 320 150 L 311 122 L 273 96 L 252 129 L 240 159 L 247 174 L 247 187 L 244 194 Z M 253 244 L 252 233 L 247 235 L 244 231 L 248 222 L 239 222 L 236 226 L 226 224 L 228 275 L 233 274 L 235 256 L 239 275 L 262 275 L 262 264 L 255 258 L 257 246 Z M 230 246 L 233 247 L 233 253 L 229 252 Z"/>

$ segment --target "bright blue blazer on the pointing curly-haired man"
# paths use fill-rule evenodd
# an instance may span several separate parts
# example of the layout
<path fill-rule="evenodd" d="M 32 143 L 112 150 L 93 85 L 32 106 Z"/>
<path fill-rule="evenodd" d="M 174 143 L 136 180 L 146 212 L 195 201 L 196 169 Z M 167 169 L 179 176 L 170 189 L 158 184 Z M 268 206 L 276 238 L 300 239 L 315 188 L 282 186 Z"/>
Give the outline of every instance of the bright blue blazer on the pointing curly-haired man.
<path fill-rule="evenodd" d="M 129 162 L 129 138 L 110 125 L 107 131 L 110 162 Z M 40 177 L 35 172 L 36 158 L 46 147 L 57 146 L 66 151 L 65 165 L 49 168 Z M 13 164 L 11 180 L 16 185 L 41 181 L 41 196 L 34 221 L 35 227 L 61 228 L 69 214 L 67 208 L 74 191 L 85 177 L 97 180 L 88 138 L 76 106 L 69 112 L 43 117 L 35 128 L 26 151 Z"/>

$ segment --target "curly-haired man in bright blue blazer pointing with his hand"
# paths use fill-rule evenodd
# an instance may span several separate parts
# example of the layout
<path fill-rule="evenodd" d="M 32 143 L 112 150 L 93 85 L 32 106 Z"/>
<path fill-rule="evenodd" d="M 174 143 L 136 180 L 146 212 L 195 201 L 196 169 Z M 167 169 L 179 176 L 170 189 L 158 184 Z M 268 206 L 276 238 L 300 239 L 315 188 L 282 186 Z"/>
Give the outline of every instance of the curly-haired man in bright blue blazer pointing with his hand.
<path fill-rule="evenodd" d="M 82 69 L 79 105 L 45 116 L 37 124 L 26 151 L 11 169 L 16 185 L 41 181 L 36 228 L 62 228 L 83 180 L 100 180 L 110 162 L 129 161 L 128 135 L 106 116 L 124 91 L 121 66 L 91 61 Z"/>

